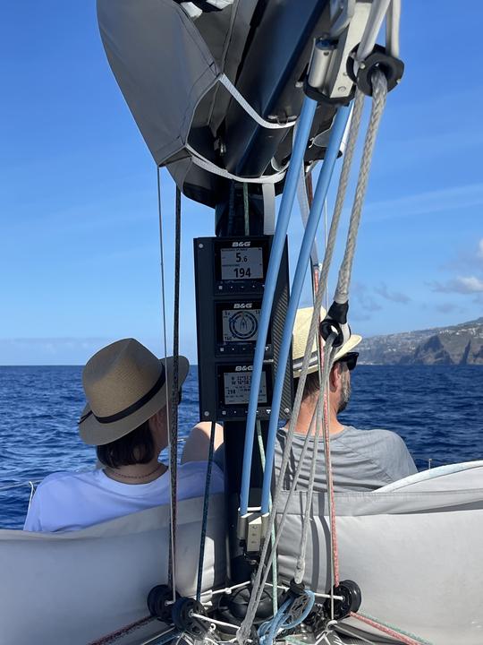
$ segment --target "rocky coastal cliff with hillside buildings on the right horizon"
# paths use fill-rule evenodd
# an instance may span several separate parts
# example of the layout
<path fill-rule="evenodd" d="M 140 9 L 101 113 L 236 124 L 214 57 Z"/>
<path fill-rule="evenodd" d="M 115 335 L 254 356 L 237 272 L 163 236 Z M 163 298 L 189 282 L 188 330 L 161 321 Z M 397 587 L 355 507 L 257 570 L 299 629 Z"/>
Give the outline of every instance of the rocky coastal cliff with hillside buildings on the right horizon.
<path fill-rule="evenodd" d="M 483 317 L 453 327 L 373 336 L 360 343 L 366 365 L 481 365 Z"/>

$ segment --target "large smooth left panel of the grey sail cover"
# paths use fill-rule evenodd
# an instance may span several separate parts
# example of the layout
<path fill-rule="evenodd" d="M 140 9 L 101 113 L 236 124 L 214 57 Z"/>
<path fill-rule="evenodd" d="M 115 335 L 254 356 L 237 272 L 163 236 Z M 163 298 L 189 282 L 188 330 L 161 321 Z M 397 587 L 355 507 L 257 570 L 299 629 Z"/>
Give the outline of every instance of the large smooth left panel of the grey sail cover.
<path fill-rule="evenodd" d="M 216 62 L 172 0 L 98 0 L 106 56 L 157 166 L 187 142 L 199 101 L 216 83 Z"/>

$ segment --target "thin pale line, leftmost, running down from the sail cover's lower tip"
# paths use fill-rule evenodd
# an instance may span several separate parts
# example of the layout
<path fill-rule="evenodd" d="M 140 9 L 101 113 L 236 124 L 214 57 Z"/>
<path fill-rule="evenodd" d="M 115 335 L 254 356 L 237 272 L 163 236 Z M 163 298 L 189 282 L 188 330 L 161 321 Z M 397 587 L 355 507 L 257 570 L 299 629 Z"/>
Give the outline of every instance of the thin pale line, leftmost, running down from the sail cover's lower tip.
<path fill-rule="evenodd" d="M 159 255 L 161 264 L 161 299 L 163 305 L 163 340 L 165 351 L 165 377 L 166 383 L 169 383 L 169 374 L 167 366 L 167 341 L 166 341 L 166 300 L 165 300 L 165 251 L 163 240 L 163 212 L 161 208 L 161 168 L 157 167 L 157 214 L 159 219 Z M 169 396 L 166 397 L 166 427 L 170 428 L 170 409 L 169 409 Z M 168 432 L 168 449 L 169 449 L 169 468 L 173 468 L 172 463 L 172 445 L 171 433 Z M 172 471 L 173 472 L 173 471 Z M 176 600 L 176 499 L 173 496 L 175 491 L 173 489 L 173 476 L 170 477 L 170 550 L 169 550 L 169 563 L 168 563 L 168 586 L 173 589 L 173 601 Z"/>

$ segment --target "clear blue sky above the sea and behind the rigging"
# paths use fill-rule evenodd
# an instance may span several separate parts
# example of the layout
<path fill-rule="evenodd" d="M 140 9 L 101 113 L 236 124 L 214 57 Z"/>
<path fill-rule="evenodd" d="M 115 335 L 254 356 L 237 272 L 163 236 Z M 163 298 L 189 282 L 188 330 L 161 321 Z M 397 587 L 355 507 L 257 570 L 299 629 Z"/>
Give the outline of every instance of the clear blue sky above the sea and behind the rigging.
<path fill-rule="evenodd" d="M 388 98 L 352 276 L 352 328 L 366 336 L 483 314 L 483 7 L 470 5 L 403 2 L 406 73 Z M 106 62 L 95 3 L 4 4 L 0 60 L 0 365 L 81 364 L 126 336 L 160 353 L 156 168 Z M 169 321 L 165 173 L 162 188 Z M 299 220 L 294 211 L 292 258 Z M 212 211 L 183 200 L 191 360 L 191 240 L 213 232 Z M 340 258 L 339 246 L 335 267 Z"/>

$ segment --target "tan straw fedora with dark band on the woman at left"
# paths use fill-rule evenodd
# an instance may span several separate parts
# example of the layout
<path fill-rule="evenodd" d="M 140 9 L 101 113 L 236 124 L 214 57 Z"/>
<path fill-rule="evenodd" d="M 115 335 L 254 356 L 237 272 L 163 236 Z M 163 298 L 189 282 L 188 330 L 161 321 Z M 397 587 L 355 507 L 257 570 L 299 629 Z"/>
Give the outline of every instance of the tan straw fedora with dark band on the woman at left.
<path fill-rule="evenodd" d="M 117 340 L 89 358 L 82 372 L 88 404 L 79 434 L 89 445 L 104 445 L 129 434 L 165 407 L 171 396 L 173 357 L 157 358 L 138 340 Z M 179 385 L 190 364 L 179 357 Z"/>

